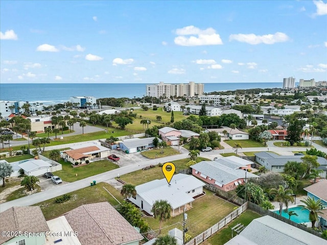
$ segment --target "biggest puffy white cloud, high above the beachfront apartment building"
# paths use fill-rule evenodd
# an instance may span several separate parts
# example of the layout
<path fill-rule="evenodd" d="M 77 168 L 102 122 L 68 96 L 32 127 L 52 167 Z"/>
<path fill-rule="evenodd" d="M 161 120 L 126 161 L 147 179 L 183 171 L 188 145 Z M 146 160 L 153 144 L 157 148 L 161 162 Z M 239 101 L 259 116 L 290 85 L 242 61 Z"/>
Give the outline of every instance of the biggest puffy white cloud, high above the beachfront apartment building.
<path fill-rule="evenodd" d="M 181 46 L 201 46 L 201 45 L 218 45 L 223 44 L 219 34 L 213 28 L 201 30 L 194 26 L 183 27 L 176 30 L 174 42 Z M 197 35 L 197 36 L 188 36 Z M 188 36 L 188 37 L 185 37 Z"/>

